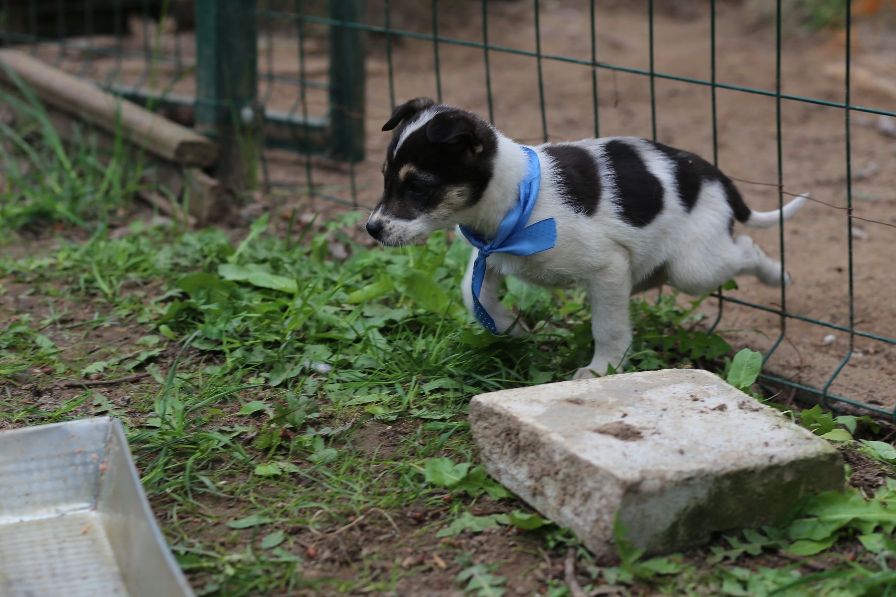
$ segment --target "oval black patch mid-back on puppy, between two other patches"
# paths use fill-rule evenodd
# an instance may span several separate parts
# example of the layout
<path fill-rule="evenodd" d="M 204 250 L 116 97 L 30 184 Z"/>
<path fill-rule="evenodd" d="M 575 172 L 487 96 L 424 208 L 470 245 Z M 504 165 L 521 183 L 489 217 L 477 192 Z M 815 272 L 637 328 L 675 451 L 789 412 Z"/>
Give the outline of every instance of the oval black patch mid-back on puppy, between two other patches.
<path fill-rule="evenodd" d="M 647 226 L 663 209 L 663 185 L 625 141 L 607 142 L 604 152 L 616 176 L 616 203 L 623 220 L 631 226 Z"/>

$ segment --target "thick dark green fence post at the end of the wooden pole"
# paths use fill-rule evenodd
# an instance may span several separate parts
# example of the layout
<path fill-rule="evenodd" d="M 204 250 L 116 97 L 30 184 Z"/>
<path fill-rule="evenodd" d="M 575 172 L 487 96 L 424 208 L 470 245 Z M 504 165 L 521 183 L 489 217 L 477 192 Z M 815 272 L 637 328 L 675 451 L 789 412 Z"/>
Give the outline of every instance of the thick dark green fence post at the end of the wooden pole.
<path fill-rule="evenodd" d="M 258 24 L 254 0 L 196 0 L 196 124 L 220 143 L 218 177 L 258 182 Z"/>

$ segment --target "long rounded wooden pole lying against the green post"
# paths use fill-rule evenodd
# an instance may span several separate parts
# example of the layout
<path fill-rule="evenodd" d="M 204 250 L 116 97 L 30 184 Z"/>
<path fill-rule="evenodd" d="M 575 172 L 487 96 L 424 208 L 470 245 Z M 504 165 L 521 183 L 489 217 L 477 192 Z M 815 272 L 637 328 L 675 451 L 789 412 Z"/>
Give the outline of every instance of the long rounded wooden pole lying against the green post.
<path fill-rule="evenodd" d="M 0 50 L 0 66 L 14 72 L 48 105 L 77 115 L 109 132 L 120 127 L 125 139 L 182 166 L 212 166 L 218 146 L 197 132 L 118 98 L 17 50 Z M 0 78 L 12 81 L 6 68 Z"/>

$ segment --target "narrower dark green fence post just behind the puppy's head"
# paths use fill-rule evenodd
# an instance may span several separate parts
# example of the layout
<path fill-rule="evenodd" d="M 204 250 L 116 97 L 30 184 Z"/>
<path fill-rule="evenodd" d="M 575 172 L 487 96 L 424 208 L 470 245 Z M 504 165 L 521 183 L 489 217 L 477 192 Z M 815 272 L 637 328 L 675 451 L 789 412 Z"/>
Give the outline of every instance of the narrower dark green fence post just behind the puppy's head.
<path fill-rule="evenodd" d="M 364 32 L 339 22 L 359 22 L 364 0 L 330 0 L 330 126 L 332 156 L 349 162 L 364 159 Z"/>

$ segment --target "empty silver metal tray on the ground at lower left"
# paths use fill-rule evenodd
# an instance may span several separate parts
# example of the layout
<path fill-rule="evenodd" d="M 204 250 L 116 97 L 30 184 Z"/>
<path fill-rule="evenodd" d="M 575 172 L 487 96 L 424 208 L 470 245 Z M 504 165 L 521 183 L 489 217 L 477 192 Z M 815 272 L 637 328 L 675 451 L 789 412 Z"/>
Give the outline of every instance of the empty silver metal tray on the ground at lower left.
<path fill-rule="evenodd" d="M 0 431 L 0 597 L 194 597 L 121 422 Z"/>

